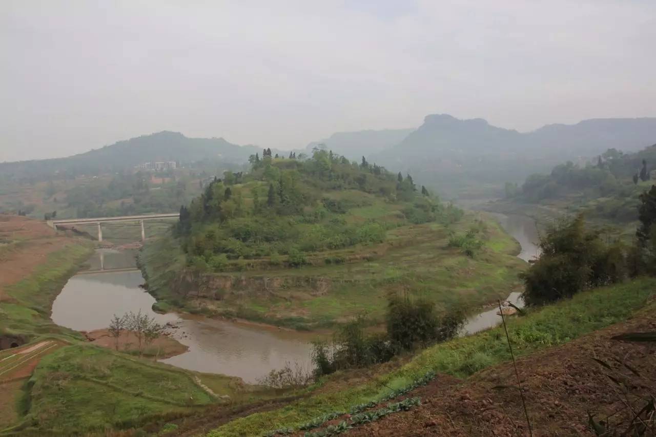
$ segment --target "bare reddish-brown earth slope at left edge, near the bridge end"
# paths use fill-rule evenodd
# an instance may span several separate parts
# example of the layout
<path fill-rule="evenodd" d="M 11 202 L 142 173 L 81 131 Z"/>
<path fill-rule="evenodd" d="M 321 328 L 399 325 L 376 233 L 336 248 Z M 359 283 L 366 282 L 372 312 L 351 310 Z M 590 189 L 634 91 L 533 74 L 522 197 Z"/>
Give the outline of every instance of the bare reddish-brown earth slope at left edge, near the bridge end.
<path fill-rule="evenodd" d="M 10 301 L 5 287 L 26 278 L 52 252 L 72 244 L 44 222 L 0 214 L 0 301 Z"/>

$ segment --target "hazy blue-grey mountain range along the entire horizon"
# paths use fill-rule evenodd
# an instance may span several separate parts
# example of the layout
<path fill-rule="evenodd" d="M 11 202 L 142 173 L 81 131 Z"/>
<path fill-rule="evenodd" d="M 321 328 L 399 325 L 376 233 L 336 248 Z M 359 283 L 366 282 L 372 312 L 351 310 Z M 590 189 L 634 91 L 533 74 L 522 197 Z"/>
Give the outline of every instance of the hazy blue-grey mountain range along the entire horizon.
<path fill-rule="evenodd" d="M 325 147 L 357 161 L 366 156 L 392 171 L 409 172 L 441 192 L 457 194 L 472 186 L 521 182 L 531 173 L 550 171 L 567 160 L 583 163 L 609 148 L 635 152 L 654 143 L 656 118 L 590 119 L 520 133 L 483 119 L 435 114 L 426 116 L 417 129 L 335 133 L 311 142 L 304 152 Z M 65 158 L 0 163 L 0 175 L 94 174 L 130 169 L 147 161 L 242 165 L 257 152 L 261 154 L 262 148 L 164 131 Z"/>

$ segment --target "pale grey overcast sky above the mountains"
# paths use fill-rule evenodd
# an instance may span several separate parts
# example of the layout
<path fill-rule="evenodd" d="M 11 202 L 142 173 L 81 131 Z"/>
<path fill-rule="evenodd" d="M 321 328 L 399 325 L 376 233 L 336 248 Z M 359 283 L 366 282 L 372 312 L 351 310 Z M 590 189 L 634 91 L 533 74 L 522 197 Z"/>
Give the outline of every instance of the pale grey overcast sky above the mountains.
<path fill-rule="evenodd" d="M 155 131 L 305 146 L 426 114 L 656 116 L 656 1 L 0 2 L 0 161 Z"/>

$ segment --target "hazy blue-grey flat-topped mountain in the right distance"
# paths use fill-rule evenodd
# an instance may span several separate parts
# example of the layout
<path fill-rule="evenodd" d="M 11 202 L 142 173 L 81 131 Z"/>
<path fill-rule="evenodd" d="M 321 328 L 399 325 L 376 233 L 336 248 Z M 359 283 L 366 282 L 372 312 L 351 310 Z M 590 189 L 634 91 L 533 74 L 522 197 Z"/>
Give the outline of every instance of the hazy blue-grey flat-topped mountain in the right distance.
<path fill-rule="evenodd" d="M 439 114 L 428 115 L 397 146 L 368 157 L 455 194 L 466 186 L 520 182 L 564 160 L 584 160 L 608 148 L 633 152 L 654 142 L 656 118 L 590 119 L 520 133 L 483 119 Z"/>

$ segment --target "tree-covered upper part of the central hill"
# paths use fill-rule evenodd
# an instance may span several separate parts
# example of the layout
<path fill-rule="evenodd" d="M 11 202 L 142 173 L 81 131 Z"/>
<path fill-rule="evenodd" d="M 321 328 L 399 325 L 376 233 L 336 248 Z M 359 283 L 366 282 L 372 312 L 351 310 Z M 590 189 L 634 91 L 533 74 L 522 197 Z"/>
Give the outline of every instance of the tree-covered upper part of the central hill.
<path fill-rule="evenodd" d="M 380 243 L 396 226 L 461 214 L 409 175 L 325 150 L 251 162 L 251 173 L 226 172 L 180 211 L 176 234 L 195 268 L 239 270 L 263 260 L 298 266 L 310 253 Z"/>

